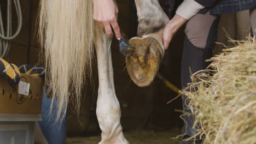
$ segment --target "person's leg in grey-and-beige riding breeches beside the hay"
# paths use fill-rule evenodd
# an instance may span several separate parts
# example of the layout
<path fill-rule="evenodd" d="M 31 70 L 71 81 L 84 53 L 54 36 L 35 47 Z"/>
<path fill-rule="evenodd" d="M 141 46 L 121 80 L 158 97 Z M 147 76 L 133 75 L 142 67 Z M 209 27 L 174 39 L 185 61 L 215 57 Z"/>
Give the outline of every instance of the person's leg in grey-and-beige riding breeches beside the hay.
<path fill-rule="evenodd" d="M 197 14 L 190 19 L 185 28 L 185 40 L 182 56 L 182 87 L 187 87 L 187 83 L 191 82 L 191 73 L 206 69 L 208 63 L 206 59 L 212 57 L 212 49 L 217 36 L 217 27 L 219 16 L 206 14 Z M 196 131 L 192 128 L 194 124 L 193 116 L 189 115 L 188 99 L 182 96 L 184 110 L 184 136 L 193 136 Z"/>

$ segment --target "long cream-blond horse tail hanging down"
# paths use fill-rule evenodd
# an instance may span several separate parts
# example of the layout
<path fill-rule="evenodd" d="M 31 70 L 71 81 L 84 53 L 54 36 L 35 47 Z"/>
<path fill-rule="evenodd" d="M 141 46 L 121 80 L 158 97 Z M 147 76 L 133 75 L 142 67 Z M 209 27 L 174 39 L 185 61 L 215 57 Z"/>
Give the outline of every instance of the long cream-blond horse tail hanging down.
<path fill-rule="evenodd" d="M 46 83 L 57 100 L 57 120 L 63 120 L 68 101 L 79 110 L 81 89 L 91 76 L 94 20 L 91 0 L 41 0 L 39 42 L 44 53 Z M 49 89 L 48 89 L 49 90 Z"/>

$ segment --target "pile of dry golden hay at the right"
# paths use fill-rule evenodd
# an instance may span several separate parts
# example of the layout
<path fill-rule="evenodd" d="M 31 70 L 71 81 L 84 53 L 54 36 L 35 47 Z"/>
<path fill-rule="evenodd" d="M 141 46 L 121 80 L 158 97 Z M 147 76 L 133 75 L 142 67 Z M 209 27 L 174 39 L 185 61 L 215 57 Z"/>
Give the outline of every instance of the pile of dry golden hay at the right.
<path fill-rule="evenodd" d="M 193 74 L 184 92 L 205 143 L 256 143 L 256 43 L 236 42 L 210 59 L 213 70 Z"/>

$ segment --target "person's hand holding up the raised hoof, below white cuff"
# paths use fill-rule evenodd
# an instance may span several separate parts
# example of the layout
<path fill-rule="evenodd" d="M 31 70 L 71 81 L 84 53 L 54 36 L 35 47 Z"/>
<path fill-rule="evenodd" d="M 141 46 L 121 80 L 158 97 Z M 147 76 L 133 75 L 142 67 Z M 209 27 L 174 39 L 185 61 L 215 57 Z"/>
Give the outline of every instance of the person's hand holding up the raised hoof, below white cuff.
<path fill-rule="evenodd" d="M 183 17 L 179 16 L 179 15 L 175 15 L 165 26 L 162 38 L 163 38 L 163 42 L 164 42 L 164 47 L 165 50 L 168 49 L 168 46 L 172 40 L 172 38 L 174 37 L 174 35 L 176 34 L 176 32 L 178 31 L 178 29 L 183 26 L 188 20 L 184 19 Z"/>

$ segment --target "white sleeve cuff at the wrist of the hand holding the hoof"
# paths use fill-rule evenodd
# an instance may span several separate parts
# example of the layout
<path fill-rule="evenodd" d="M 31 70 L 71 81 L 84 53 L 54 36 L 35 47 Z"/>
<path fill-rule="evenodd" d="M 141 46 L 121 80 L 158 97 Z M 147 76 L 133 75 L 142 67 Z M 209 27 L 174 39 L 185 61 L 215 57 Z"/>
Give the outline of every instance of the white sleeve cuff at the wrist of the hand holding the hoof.
<path fill-rule="evenodd" d="M 205 6 L 194 0 L 184 0 L 176 10 L 176 14 L 182 16 L 186 20 L 189 20 L 203 8 L 205 8 Z"/>

